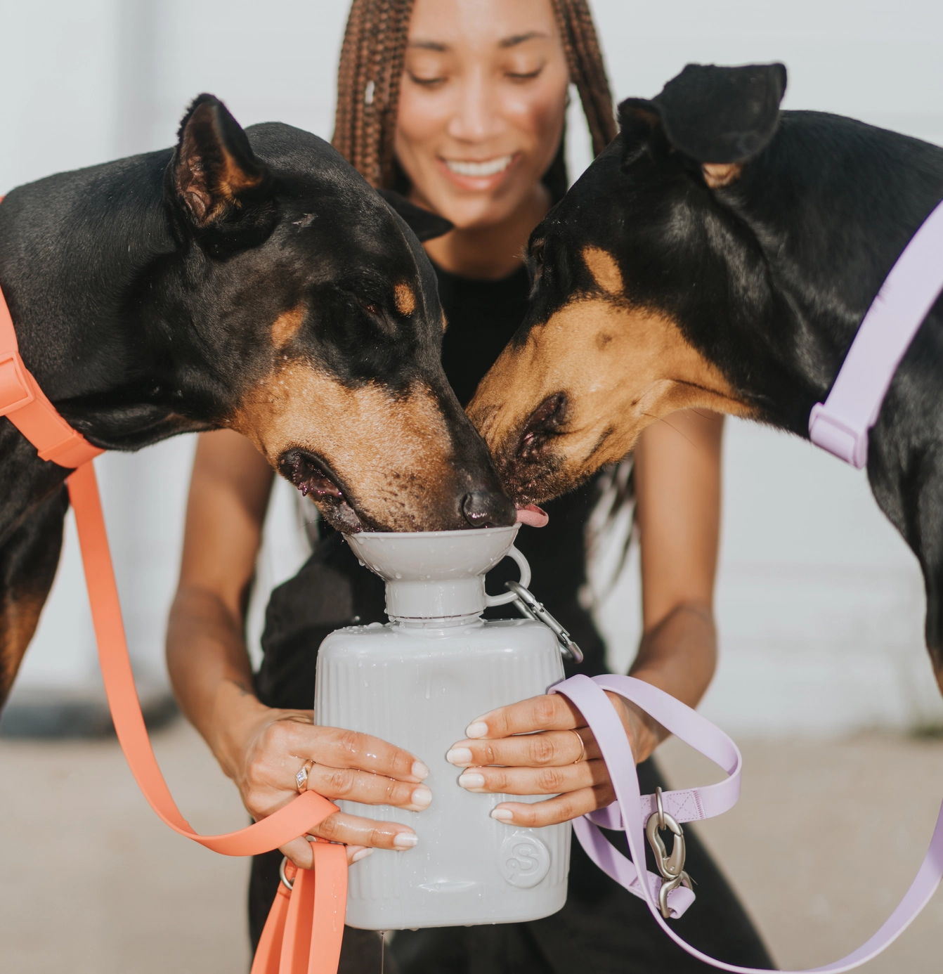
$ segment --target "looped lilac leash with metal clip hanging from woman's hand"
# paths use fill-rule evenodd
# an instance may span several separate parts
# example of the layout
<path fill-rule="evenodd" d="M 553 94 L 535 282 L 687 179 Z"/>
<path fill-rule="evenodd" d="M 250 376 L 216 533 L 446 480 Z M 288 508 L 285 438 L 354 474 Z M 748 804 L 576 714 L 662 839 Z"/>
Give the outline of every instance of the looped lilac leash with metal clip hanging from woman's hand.
<path fill-rule="evenodd" d="M 640 794 L 635 759 L 632 757 L 628 739 L 622 728 L 622 721 L 604 693 L 607 690 L 618 693 L 637 704 L 664 728 L 724 768 L 729 775 L 727 780 L 705 788 L 664 792 L 659 797 L 665 817 L 674 817 L 677 822 L 710 818 L 732 807 L 739 796 L 741 759 L 736 744 L 726 733 L 701 717 L 697 711 L 657 687 L 633 677 L 607 675 L 590 680 L 585 676 L 574 676 L 556 684 L 550 689 L 550 693 L 562 693 L 579 708 L 596 738 L 616 792 L 616 802 L 613 805 L 574 821 L 573 829 L 577 838 L 583 844 L 589 858 L 600 869 L 621 883 L 630 893 L 645 900 L 661 929 L 679 947 L 704 963 L 719 967 L 721 970 L 734 971 L 737 974 L 755 974 L 758 968 L 739 967 L 736 964 L 715 960 L 682 940 L 661 915 L 659 894 L 661 884 L 665 880 L 646 870 L 648 881 L 639 881 L 633 863 L 644 864 L 645 862 L 643 829 L 651 824 L 652 819 L 658 819 L 658 799 L 653 795 Z M 632 856 L 631 862 L 603 836 L 599 829 L 600 825 L 608 829 L 624 829 Z M 655 831 L 658 830 L 654 828 L 649 830 L 650 834 Z M 939 885 L 941 877 L 943 877 L 943 807 L 940 808 L 933 838 L 930 840 L 917 878 L 911 883 L 910 889 L 904 894 L 897 909 L 887 918 L 881 929 L 862 947 L 840 960 L 826 964 L 824 967 L 811 967 L 808 971 L 795 971 L 792 974 L 809 974 L 811 971 L 832 971 L 834 974 L 839 974 L 841 971 L 859 967 L 879 955 L 924 909 Z M 694 894 L 686 887 L 677 885 L 667 893 L 665 899 L 670 913 L 676 918 L 691 906 L 694 902 Z"/>

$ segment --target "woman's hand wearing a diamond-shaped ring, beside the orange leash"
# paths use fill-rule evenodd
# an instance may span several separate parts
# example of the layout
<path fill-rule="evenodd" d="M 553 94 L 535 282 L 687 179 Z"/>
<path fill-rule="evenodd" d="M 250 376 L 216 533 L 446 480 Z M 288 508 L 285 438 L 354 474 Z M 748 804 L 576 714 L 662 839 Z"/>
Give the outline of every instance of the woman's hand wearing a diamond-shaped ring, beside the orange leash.
<path fill-rule="evenodd" d="M 225 756 L 220 757 L 254 819 L 271 815 L 297 796 L 295 775 L 305 767 L 307 787 L 331 801 L 409 811 L 422 811 L 432 802 L 432 791 L 422 784 L 429 768 L 408 751 L 369 734 L 316 727 L 310 710 L 272 709 L 248 694 L 243 699 L 246 712 L 229 725 Z M 418 842 L 408 825 L 341 811 L 328 815 L 310 834 L 346 844 L 349 863 L 374 848 L 404 851 Z M 311 843 L 303 838 L 281 851 L 299 868 L 312 867 Z"/>

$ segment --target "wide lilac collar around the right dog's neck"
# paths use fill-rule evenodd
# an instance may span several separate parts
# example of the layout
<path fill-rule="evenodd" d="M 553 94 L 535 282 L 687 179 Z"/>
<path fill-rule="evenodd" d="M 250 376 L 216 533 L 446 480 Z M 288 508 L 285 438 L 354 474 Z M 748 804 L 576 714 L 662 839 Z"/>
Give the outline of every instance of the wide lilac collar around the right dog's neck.
<path fill-rule="evenodd" d="M 901 358 L 943 289 L 943 203 L 924 220 L 890 269 L 824 404 L 812 406 L 809 438 L 860 469 L 868 462 L 868 431 Z"/>

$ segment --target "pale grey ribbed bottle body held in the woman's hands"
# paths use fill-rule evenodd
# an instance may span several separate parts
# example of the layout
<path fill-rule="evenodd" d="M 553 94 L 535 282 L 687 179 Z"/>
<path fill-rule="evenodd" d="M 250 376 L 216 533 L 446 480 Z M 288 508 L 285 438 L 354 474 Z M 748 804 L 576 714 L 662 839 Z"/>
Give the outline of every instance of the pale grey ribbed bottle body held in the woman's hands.
<path fill-rule="evenodd" d="M 321 644 L 315 701 L 322 726 L 375 734 L 430 768 L 421 812 L 341 802 L 351 814 L 408 824 L 419 843 L 378 849 L 350 869 L 347 922 L 373 930 L 547 917 L 566 900 L 570 826 L 524 829 L 490 817 L 506 801 L 474 795 L 445 760 L 471 721 L 546 693 L 563 679 L 559 648 L 540 622 L 477 621 L 450 628 L 352 626 Z"/>

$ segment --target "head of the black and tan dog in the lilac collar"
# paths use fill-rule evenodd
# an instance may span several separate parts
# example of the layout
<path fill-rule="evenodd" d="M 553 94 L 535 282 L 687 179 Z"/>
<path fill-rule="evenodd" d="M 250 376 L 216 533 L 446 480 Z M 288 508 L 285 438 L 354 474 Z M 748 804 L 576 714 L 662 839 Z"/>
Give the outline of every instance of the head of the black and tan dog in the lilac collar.
<path fill-rule="evenodd" d="M 534 231 L 528 316 L 469 405 L 518 503 L 622 459 L 674 410 L 753 411 L 707 351 L 731 254 L 757 260 L 718 201 L 773 139 L 785 83 L 781 64 L 688 65 L 629 98 L 619 136 Z"/>

